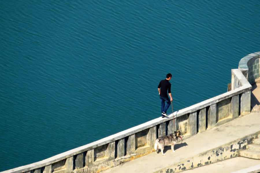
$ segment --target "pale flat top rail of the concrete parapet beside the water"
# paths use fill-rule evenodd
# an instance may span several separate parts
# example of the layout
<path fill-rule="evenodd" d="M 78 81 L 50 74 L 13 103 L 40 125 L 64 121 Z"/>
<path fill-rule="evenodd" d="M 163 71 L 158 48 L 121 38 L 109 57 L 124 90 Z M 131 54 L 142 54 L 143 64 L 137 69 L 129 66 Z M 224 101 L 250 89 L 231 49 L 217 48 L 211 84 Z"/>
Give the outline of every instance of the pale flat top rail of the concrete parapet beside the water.
<path fill-rule="evenodd" d="M 14 168 L 14 169 L 11 169 L 11 170 L 6 170 L 6 171 L 3 171 L 1 173 L 26 172 L 26 171 L 29 171 L 29 170 L 33 170 L 33 169 L 36 169 L 36 168 L 41 168 L 43 166 L 50 165 L 52 163 L 66 159 L 66 158 L 71 157 L 73 155 L 82 153 L 84 151 L 91 150 L 93 148 L 107 144 L 109 142 L 114 142 L 115 140 L 124 138 L 126 136 L 131 135 L 131 134 L 137 133 L 137 132 L 142 131 L 144 129 L 148 129 L 150 127 L 153 127 L 155 125 L 158 125 L 160 123 L 168 121 L 168 120 L 172 119 L 173 115 L 174 115 L 174 118 L 176 118 L 176 117 L 182 116 L 184 114 L 195 112 L 199 109 L 205 108 L 205 107 L 210 106 L 212 104 L 216 104 L 217 102 L 222 101 L 224 99 L 227 99 L 229 97 L 233 97 L 233 96 L 238 95 L 240 93 L 243 93 L 245 91 L 249 91 L 252 88 L 252 86 L 249 84 L 249 82 L 246 80 L 246 78 L 244 77 L 244 75 L 242 74 L 242 72 L 239 69 L 232 69 L 232 74 L 234 74 L 240 80 L 240 82 L 242 84 L 241 87 L 234 89 L 232 91 L 226 92 L 224 94 L 218 95 L 218 96 L 213 97 L 211 99 L 207 99 L 207 100 L 202 101 L 198 104 L 194 104 L 190 107 L 176 111 L 173 114 L 170 114 L 169 118 L 153 119 L 153 120 L 148 121 L 146 123 L 143 123 L 143 124 L 140 124 L 138 126 L 132 127 L 130 129 L 121 131 L 121 132 L 116 133 L 114 135 L 111 135 L 111 136 L 108 136 L 106 138 L 100 139 L 98 141 L 92 142 L 90 144 L 86 144 L 86 145 L 80 146 L 78 148 L 74 148 L 70 151 L 66 151 L 64 153 L 55 155 L 55 156 L 50 157 L 48 159 L 45 159 L 45 160 L 42 160 L 42 161 L 39 161 L 39 162 L 35 162 L 35 163 L 31 163 L 29 165 L 21 166 L 21 167 L 18 167 L 18 168 Z"/>

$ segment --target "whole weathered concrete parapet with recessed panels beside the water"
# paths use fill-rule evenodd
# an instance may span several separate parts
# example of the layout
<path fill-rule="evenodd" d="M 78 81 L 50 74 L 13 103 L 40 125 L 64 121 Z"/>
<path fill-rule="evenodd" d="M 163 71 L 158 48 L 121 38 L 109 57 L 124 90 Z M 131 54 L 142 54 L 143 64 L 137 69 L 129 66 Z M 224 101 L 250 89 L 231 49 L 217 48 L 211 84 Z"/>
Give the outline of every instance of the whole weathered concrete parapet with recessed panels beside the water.
<path fill-rule="evenodd" d="M 231 71 L 233 89 L 178 110 L 169 118 L 157 118 L 51 158 L 3 173 L 100 172 L 154 151 L 156 138 L 179 129 L 183 140 L 250 113 L 250 89 L 239 69 Z M 232 77 L 233 76 L 233 77 Z M 175 127 L 175 129 L 174 129 Z"/>

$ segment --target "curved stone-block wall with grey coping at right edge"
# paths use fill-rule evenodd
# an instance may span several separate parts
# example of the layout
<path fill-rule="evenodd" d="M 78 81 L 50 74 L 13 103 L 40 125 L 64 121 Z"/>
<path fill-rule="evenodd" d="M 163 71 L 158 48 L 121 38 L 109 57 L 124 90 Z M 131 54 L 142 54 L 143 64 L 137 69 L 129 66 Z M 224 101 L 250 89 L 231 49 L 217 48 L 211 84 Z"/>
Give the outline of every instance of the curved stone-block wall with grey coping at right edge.
<path fill-rule="evenodd" d="M 260 82 L 259 72 L 260 52 L 251 53 L 239 61 L 238 69 L 248 69 L 247 80 L 250 84 Z"/>

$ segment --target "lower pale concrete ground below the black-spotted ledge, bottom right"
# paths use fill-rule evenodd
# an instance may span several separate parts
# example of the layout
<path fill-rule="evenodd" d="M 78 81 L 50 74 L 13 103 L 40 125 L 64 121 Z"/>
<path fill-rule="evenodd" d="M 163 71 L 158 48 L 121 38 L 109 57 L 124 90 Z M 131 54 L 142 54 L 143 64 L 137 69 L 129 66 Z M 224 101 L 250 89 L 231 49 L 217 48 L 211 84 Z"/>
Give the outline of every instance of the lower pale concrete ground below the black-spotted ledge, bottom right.
<path fill-rule="evenodd" d="M 234 157 L 231 159 L 212 163 L 207 166 L 201 166 L 198 168 L 186 170 L 183 173 L 231 173 L 259 164 L 260 160 L 248 159 L 244 157 Z"/>

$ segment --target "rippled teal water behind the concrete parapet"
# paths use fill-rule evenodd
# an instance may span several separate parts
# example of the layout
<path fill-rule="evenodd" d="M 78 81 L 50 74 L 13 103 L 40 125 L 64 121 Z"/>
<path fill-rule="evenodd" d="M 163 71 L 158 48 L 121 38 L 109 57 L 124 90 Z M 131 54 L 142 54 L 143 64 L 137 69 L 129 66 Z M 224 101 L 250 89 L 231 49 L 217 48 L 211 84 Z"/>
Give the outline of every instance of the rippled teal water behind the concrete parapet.
<path fill-rule="evenodd" d="M 260 51 L 259 1 L 0 2 L 0 171 L 222 94 Z M 170 110 L 168 111 L 170 112 Z"/>

